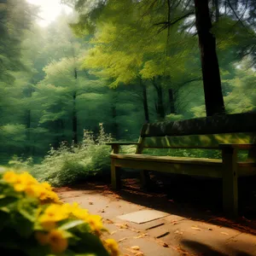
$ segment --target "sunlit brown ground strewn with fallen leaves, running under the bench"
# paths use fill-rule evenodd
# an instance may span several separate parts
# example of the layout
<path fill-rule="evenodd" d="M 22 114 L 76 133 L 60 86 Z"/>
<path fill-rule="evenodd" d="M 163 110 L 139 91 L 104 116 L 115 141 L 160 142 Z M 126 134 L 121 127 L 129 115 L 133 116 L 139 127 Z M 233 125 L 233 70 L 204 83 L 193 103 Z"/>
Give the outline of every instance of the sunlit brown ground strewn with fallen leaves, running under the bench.
<path fill-rule="evenodd" d="M 117 192 L 105 178 L 56 191 L 63 201 L 79 201 L 90 212 L 102 215 L 124 255 L 256 255 L 255 180 L 239 183 L 240 217 L 236 219 L 224 217 L 218 180 L 154 176 L 152 180 L 150 192 L 143 192 L 139 180 L 129 175 Z M 118 218 L 143 209 L 169 216 L 140 225 Z M 117 229 L 117 225 L 126 228 Z M 146 231 L 149 225 L 155 227 Z"/>

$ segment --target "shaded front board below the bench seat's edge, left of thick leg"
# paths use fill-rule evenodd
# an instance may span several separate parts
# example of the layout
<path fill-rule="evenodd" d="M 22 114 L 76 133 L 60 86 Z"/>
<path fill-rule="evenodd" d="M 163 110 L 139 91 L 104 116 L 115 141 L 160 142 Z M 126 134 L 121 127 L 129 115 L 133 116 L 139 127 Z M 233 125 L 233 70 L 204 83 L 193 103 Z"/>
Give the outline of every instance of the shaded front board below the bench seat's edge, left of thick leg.
<path fill-rule="evenodd" d="M 185 163 L 171 163 L 171 162 L 157 162 L 154 160 L 143 161 L 143 160 L 124 160 L 115 159 L 115 166 L 137 169 L 137 170 L 148 170 L 156 172 L 169 172 L 176 174 L 184 174 L 189 176 L 198 177 L 222 177 L 221 164 L 218 166 L 194 166 Z"/>

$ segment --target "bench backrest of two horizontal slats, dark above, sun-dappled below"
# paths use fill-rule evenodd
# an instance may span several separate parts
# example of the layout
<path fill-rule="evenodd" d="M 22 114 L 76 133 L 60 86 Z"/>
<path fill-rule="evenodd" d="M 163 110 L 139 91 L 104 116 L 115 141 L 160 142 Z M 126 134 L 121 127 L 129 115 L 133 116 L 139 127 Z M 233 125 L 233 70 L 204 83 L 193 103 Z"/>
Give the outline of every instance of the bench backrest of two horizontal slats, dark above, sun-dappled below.
<path fill-rule="evenodd" d="M 218 148 L 220 143 L 256 143 L 256 113 L 216 115 L 166 121 L 142 127 L 137 154 L 143 148 Z"/>

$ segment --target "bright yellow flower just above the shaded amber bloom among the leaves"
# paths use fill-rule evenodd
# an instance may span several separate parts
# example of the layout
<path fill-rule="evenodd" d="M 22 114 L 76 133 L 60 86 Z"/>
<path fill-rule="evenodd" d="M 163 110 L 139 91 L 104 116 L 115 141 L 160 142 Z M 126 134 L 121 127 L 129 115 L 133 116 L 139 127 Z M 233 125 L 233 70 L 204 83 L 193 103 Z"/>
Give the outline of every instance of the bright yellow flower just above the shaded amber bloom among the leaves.
<path fill-rule="evenodd" d="M 60 205 L 52 204 L 46 208 L 44 213 L 39 217 L 39 222 L 44 229 L 50 230 L 55 228 L 55 223 L 62 219 L 68 218 L 68 212 Z"/>

